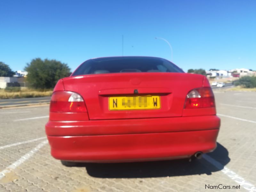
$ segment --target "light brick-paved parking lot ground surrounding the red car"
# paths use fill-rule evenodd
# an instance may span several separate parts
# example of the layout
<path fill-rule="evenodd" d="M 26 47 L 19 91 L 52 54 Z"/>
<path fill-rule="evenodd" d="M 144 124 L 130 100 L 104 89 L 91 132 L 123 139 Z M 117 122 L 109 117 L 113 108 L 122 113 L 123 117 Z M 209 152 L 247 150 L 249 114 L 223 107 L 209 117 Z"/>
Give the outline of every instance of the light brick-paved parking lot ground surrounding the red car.
<path fill-rule="evenodd" d="M 65 167 L 45 138 L 48 105 L 0 109 L 0 191 L 256 191 L 256 92 L 214 93 L 218 147 L 192 162 Z"/>

